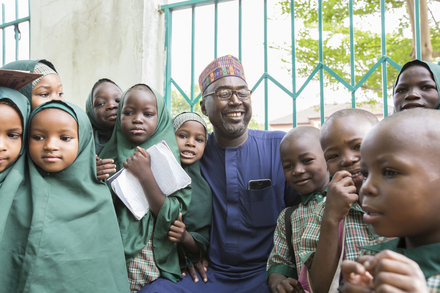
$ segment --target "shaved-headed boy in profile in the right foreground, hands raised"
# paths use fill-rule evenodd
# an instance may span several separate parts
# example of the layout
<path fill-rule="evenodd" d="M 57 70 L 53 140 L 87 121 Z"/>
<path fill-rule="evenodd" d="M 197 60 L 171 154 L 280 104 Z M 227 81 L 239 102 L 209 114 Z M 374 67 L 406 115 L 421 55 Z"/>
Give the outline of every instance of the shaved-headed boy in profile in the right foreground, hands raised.
<path fill-rule="evenodd" d="M 364 219 L 397 239 L 364 246 L 380 252 L 374 257 L 344 262 L 344 292 L 440 292 L 439 121 L 432 109 L 399 112 L 365 137 Z"/>

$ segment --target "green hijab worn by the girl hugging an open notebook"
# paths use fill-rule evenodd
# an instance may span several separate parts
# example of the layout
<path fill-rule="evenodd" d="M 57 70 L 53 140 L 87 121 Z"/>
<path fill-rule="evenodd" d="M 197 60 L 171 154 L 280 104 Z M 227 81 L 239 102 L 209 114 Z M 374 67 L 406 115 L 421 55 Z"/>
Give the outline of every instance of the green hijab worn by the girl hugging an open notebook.
<path fill-rule="evenodd" d="M 158 122 L 153 134 L 147 141 L 133 143 L 122 133 L 122 105 L 125 95 L 130 89 L 122 94 L 117 109 L 117 119 L 112 137 L 99 154 L 99 157 L 114 159 L 116 170 L 121 170 L 123 163 L 135 152 L 136 146 L 147 149 L 164 140 L 176 160 L 180 162 L 179 148 L 177 147 L 176 137 L 174 136 L 170 114 L 165 107 L 165 101 L 161 94 L 151 87 L 150 89 L 156 97 L 158 107 Z M 113 192 L 112 195 L 114 197 L 114 206 L 119 221 L 122 242 L 124 244 L 126 261 L 129 262 L 136 257 L 147 245 L 148 239 L 150 239 L 151 233 L 154 231 L 153 253 L 156 265 L 161 271 L 161 276 L 172 282 L 177 282 L 182 279 L 177 254 L 177 244 L 169 241 L 168 231 L 172 222 L 179 219 L 180 212 L 183 215 L 186 214 L 191 202 L 191 185 L 167 196 L 157 218 L 149 212 L 139 221 L 136 221 L 132 213 Z"/>

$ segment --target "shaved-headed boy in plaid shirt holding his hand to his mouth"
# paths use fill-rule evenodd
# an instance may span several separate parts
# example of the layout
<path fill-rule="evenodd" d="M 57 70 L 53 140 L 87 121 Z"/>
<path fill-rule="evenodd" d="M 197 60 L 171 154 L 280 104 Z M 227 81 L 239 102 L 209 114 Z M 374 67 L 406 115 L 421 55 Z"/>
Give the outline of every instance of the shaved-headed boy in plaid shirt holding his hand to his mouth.
<path fill-rule="evenodd" d="M 300 252 L 315 293 L 336 292 L 342 259 L 356 260 L 358 246 L 375 239 L 363 221 L 358 194 L 361 142 L 376 123 L 377 117 L 362 109 L 339 110 L 323 123 L 319 140 L 332 180 L 304 230 Z"/>

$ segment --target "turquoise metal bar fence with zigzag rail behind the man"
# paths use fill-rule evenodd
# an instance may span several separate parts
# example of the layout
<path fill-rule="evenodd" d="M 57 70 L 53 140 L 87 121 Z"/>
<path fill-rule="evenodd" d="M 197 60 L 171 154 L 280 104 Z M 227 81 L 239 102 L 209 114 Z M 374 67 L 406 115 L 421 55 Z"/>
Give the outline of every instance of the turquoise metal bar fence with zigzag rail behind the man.
<path fill-rule="evenodd" d="M 214 58 L 217 58 L 217 28 L 218 28 L 218 13 L 217 5 L 222 2 L 238 1 L 238 58 L 242 60 L 242 0 L 188 0 L 175 4 L 162 5 L 161 10 L 165 12 L 165 52 L 166 52 L 166 67 L 165 67 L 165 103 L 169 110 L 171 110 L 171 85 L 173 84 L 176 89 L 182 94 L 183 98 L 188 102 L 191 107 L 191 111 L 194 111 L 194 105 L 198 103 L 201 98 L 201 94 L 194 97 L 194 39 L 195 39 L 195 12 L 196 7 L 205 5 L 214 5 Z M 356 108 L 356 91 L 366 82 L 370 75 L 381 66 L 382 69 L 382 97 L 384 105 L 384 116 L 388 116 L 388 94 L 387 94 L 387 64 L 393 66 L 397 70 L 401 69 L 401 66 L 387 56 L 386 51 L 386 34 L 385 34 L 385 0 L 380 0 L 381 7 L 381 58 L 370 68 L 370 70 L 356 83 L 355 80 L 355 59 L 354 59 L 354 33 L 353 33 L 353 0 L 349 0 L 348 14 L 350 18 L 350 70 L 351 70 L 351 82 L 348 83 L 341 76 L 337 75 L 330 67 L 328 67 L 323 61 L 323 0 L 318 1 L 318 29 L 319 29 L 319 63 L 313 69 L 307 80 L 297 90 L 296 83 L 296 69 L 295 69 L 295 1 L 290 0 L 290 18 L 292 27 L 292 90 L 287 89 L 275 78 L 268 73 L 268 15 L 267 15 L 267 0 L 264 0 L 264 72 L 260 79 L 252 87 L 255 91 L 259 87 L 260 83 L 264 80 L 264 127 L 268 129 L 268 81 L 270 80 L 286 94 L 288 94 L 293 101 L 293 127 L 297 126 L 297 109 L 296 99 L 312 80 L 312 78 L 319 74 L 319 87 L 320 87 L 320 111 L 321 111 L 321 124 L 324 123 L 324 70 L 339 81 L 344 87 L 351 91 L 352 96 L 352 108 Z M 416 58 L 421 59 L 421 41 L 420 41 L 420 12 L 419 12 L 419 0 L 414 0 L 414 14 L 415 14 L 415 50 Z M 172 79 L 171 68 L 171 50 L 172 50 L 172 12 L 182 9 L 192 10 L 192 25 L 191 25 L 191 94 L 190 97 L 179 87 L 175 80 Z"/>

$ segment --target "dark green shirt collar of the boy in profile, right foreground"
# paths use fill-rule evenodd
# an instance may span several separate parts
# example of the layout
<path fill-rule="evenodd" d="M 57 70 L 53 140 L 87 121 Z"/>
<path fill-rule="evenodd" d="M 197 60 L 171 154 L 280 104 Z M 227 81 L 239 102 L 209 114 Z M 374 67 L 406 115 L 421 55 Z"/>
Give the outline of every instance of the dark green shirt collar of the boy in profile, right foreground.
<path fill-rule="evenodd" d="M 422 269 L 425 278 L 440 274 L 440 242 L 422 245 L 411 249 L 404 248 L 405 239 L 396 238 L 387 242 L 381 242 L 370 246 L 361 246 L 365 250 L 380 252 L 392 250 L 414 260 Z"/>

